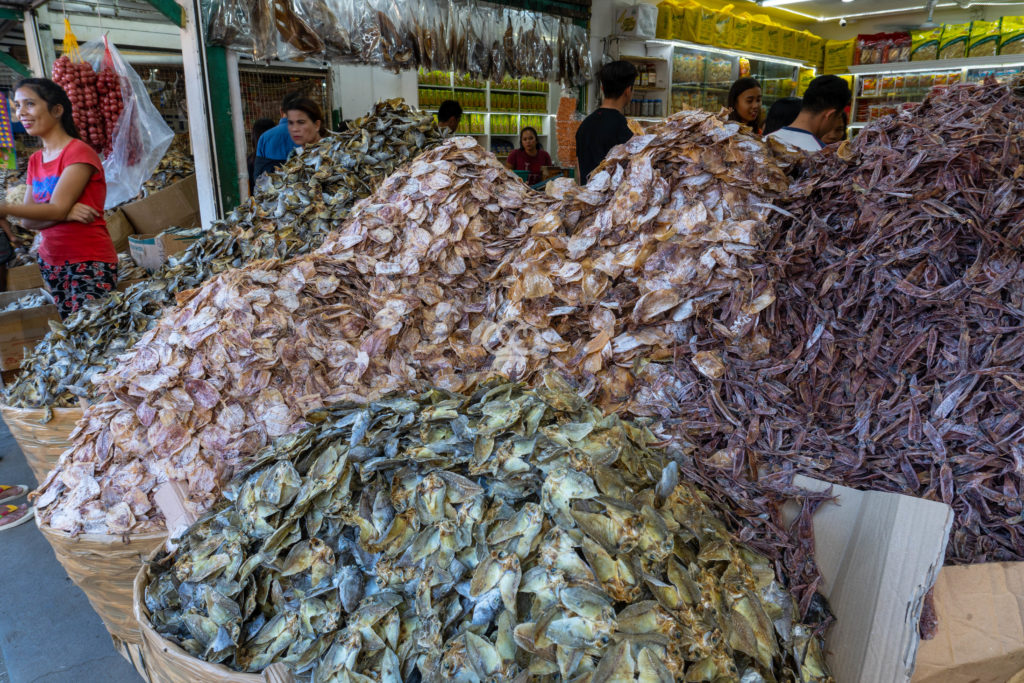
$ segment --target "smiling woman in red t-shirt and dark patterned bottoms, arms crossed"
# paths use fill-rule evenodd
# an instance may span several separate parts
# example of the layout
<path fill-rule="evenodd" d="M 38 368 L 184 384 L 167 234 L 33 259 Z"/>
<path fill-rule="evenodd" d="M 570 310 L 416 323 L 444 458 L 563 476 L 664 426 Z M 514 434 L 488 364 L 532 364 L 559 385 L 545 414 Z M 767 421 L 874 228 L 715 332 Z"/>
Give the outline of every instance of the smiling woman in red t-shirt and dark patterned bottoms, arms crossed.
<path fill-rule="evenodd" d="M 103 165 L 79 138 L 68 93 L 53 81 L 18 83 L 14 111 L 43 148 L 29 158 L 25 203 L 0 204 L 0 218 L 18 216 L 26 227 L 42 230 L 40 268 L 63 318 L 117 284 L 118 254 L 103 220 Z"/>

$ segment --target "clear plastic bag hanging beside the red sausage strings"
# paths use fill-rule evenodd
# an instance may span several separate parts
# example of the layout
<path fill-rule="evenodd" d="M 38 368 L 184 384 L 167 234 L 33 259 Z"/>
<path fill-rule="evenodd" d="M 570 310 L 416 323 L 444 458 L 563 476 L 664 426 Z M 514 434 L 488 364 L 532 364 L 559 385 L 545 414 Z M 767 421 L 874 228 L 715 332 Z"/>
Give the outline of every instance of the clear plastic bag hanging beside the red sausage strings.
<path fill-rule="evenodd" d="M 174 139 L 174 132 L 164 123 L 154 106 L 135 70 L 105 38 L 89 41 L 81 48 L 82 58 L 93 70 L 104 62 L 121 81 L 124 110 L 114 127 L 111 153 L 103 159 L 106 176 L 106 203 L 110 209 L 138 195 L 142 183 L 150 179 L 160 160 Z"/>

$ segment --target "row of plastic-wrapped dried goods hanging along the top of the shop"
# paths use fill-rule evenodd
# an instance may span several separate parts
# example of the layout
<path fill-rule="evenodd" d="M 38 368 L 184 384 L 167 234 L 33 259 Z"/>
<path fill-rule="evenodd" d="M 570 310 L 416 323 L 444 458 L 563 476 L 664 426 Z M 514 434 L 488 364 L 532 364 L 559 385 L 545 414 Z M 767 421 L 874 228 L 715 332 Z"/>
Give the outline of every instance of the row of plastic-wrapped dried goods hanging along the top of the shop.
<path fill-rule="evenodd" d="M 203 8 L 210 43 L 258 61 L 308 55 L 481 81 L 507 75 L 584 85 L 590 78 L 586 29 L 475 0 L 204 0 Z"/>

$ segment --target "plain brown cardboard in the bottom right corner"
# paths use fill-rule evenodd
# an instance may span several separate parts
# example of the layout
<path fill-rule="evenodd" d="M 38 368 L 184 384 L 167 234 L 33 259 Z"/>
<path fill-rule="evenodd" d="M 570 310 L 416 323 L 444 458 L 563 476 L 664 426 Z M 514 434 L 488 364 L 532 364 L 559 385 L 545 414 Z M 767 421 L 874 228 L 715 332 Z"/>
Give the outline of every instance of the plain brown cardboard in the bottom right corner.
<path fill-rule="evenodd" d="M 1005 683 L 1024 670 L 1024 562 L 942 567 L 935 612 L 913 683 Z"/>

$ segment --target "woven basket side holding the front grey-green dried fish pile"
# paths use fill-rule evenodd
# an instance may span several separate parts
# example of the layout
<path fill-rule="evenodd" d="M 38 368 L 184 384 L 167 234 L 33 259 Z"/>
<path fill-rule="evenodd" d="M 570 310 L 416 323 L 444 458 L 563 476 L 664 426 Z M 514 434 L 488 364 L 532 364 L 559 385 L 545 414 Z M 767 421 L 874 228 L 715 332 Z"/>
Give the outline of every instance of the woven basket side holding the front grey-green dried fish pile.
<path fill-rule="evenodd" d="M 142 656 L 152 683 L 295 683 L 291 671 L 273 664 L 262 674 L 243 674 L 219 664 L 197 659 L 154 631 L 150 611 L 145 608 L 145 587 L 150 584 L 150 567 L 143 565 L 135 573 L 132 585 L 132 609 L 138 625 Z"/>

